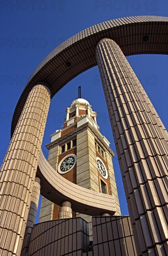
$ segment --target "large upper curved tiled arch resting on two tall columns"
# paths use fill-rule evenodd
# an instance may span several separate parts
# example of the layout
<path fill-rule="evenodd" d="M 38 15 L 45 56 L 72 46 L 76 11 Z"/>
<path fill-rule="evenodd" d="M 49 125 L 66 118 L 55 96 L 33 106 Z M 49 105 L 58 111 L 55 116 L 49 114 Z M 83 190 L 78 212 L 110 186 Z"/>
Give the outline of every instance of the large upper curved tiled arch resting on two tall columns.
<path fill-rule="evenodd" d="M 38 81 L 46 81 L 51 85 L 53 97 L 67 82 L 97 65 L 95 47 L 104 37 L 113 39 L 126 56 L 168 54 L 168 18 L 135 16 L 109 20 L 88 27 L 60 44 L 40 63 L 27 82 L 14 111 L 11 136 L 33 86 Z"/>

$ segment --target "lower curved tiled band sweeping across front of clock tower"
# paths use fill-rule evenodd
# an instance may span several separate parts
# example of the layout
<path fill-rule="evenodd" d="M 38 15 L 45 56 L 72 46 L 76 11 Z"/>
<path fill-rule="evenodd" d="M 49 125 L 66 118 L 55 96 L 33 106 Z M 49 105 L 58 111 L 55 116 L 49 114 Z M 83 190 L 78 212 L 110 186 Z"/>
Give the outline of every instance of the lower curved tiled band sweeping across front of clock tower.
<path fill-rule="evenodd" d="M 36 176 L 40 178 L 41 195 L 58 205 L 70 201 L 74 211 L 91 216 L 115 212 L 112 195 L 97 193 L 68 181 L 54 170 L 42 152 Z"/>

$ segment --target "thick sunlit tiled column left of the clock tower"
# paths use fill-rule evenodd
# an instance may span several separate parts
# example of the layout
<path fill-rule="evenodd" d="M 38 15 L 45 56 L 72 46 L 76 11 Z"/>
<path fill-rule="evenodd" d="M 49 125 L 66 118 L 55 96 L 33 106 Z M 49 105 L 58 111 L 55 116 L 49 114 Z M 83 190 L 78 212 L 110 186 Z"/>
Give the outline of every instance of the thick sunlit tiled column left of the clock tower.
<path fill-rule="evenodd" d="M 0 255 L 3 256 L 20 256 L 49 104 L 47 86 L 44 83 L 34 86 L 1 166 Z"/>

